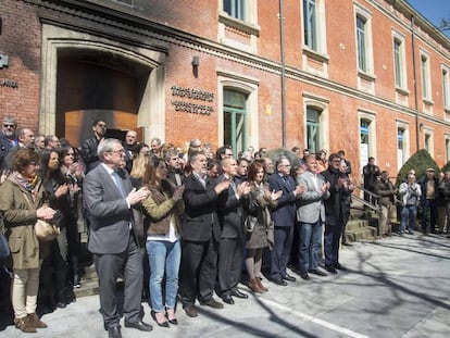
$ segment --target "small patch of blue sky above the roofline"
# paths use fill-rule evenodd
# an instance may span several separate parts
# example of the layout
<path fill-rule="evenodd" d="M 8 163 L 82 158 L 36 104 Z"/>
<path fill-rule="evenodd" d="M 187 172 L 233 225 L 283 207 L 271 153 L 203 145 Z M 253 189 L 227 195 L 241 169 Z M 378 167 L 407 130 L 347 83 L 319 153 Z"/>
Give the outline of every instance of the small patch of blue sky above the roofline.
<path fill-rule="evenodd" d="M 407 0 L 417 12 L 425 16 L 437 28 L 445 18 L 449 23 L 449 29 L 443 30 L 450 38 L 450 0 Z"/>

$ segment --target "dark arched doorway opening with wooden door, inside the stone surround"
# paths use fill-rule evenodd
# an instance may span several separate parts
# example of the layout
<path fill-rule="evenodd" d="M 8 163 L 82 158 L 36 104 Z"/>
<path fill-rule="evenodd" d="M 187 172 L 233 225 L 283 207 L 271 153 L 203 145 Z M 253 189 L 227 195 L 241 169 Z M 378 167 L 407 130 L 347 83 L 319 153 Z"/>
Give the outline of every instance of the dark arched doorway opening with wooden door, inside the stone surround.
<path fill-rule="evenodd" d="M 104 51 L 60 49 L 57 77 L 57 135 L 78 147 L 95 120 L 108 137 L 124 139 L 137 129 L 137 114 L 150 70 Z"/>

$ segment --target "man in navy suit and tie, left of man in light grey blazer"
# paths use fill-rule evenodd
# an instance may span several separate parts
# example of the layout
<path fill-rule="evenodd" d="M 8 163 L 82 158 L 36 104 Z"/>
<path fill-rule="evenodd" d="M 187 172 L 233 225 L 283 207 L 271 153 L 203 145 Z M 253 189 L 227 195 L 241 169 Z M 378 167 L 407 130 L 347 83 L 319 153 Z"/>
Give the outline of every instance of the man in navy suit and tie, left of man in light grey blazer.
<path fill-rule="evenodd" d="M 276 163 L 276 173 L 268 177 L 271 191 L 283 191 L 278 204 L 272 211 L 274 222 L 274 249 L 271 253 L 271 280 L 277 285 L 286 286 L 286 280 L 296 281 L 296 278 L 286 272 L 292 245 L 293 223 L 296 217 L 296 199 L 303 192 L 304 186 L 296 186 L 290 176 L 290 162 L 280 157 Z"/>

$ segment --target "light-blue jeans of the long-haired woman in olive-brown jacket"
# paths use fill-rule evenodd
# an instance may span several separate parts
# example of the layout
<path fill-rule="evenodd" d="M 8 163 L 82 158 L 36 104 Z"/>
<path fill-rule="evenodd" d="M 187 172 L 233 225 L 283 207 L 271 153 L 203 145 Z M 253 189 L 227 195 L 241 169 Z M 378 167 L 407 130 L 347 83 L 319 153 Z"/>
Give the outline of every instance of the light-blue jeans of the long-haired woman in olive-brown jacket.
<path fill-rule="evenodd" d="M 182 259 L 179 240 L 148 240 L 147 252 L 150 263 L 150 302 L 154 312 L 164 312 L 164 305 L 175 309 L 178 292 L 178 271 Z M 165 304 L 163 303 L 162 280 L 165 274 Z"/>

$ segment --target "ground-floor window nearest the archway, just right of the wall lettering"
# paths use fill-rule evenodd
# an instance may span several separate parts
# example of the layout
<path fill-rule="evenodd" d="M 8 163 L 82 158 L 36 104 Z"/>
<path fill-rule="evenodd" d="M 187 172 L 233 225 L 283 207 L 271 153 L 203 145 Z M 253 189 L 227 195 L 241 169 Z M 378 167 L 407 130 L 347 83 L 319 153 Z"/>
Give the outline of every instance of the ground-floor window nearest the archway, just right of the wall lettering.
<path fill-rule="evenodd" d="M 247 149 L 247 95 L 224 90 L 224 145 L 236 154 Z"/>

